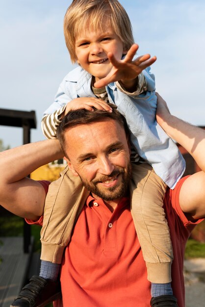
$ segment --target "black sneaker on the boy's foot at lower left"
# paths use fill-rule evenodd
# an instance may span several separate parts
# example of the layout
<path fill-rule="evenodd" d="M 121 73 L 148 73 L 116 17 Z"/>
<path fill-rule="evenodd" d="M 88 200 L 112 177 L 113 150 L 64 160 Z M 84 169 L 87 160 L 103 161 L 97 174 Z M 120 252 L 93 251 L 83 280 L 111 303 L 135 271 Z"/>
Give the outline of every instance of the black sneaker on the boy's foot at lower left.
<path fill-rule="evenodd" d="M 44 307 L 60 297 L 60 281 L 32 276 L 10 307 Z"/>

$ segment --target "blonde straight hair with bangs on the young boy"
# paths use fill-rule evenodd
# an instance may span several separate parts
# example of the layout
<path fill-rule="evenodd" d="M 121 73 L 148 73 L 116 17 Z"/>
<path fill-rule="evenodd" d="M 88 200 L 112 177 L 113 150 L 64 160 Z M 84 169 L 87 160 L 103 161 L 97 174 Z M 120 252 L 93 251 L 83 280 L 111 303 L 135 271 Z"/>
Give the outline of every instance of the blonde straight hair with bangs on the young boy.
<path fill-rule="evenodd" d="M 72 63 L 77 62 L 75 52 L 78 33 L 87 26 L 101 30 L 110 26 L 121 39 L 125 51 L 134 43 L 127 12 L 117 0 L 73 0 L 64 18 L 64 35 Z"/>

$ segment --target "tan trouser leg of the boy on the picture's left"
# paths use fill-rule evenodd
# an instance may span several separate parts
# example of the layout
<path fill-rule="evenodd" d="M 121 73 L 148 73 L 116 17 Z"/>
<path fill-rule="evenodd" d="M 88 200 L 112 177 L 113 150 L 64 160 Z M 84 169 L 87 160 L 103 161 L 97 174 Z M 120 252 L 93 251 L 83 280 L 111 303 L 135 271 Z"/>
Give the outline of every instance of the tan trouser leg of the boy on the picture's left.
<path fill-rule="evenodd" d="M 80 178 L 74 176 L 68 167 L 58 180 L 51 182 L 41 230 L 42 260 L 61 263 L 75 220 L 88 195 Z"/>

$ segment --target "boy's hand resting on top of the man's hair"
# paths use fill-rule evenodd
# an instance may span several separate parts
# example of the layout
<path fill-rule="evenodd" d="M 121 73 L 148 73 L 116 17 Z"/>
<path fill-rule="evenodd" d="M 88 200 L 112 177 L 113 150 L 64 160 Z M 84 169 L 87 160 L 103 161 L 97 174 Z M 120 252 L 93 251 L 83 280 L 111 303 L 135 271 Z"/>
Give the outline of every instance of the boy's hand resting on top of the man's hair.
<path fill-rule="evenodd" d="M 79 97 L 67 103 L 64 115 L 66 115 L 69 111 L 78 109 L 94 111 L 93 107 L 99 110 L 112 112 L 112 108 L 101 99 L 95 97 Z"/>

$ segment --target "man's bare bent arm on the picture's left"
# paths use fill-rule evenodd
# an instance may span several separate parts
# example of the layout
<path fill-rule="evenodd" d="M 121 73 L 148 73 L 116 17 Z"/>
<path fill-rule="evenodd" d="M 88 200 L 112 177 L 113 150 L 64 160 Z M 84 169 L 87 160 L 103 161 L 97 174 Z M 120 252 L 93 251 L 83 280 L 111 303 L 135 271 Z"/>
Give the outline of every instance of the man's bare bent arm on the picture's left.
<path fill-rule="evenodd" d="M 12 213 L 36 220 L 43 214 L 46 193 L 26 178 L 38 167 L 63 157 L 58 140 L 46 140 L 0 153 L 0 205 Z"/>

